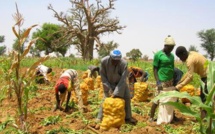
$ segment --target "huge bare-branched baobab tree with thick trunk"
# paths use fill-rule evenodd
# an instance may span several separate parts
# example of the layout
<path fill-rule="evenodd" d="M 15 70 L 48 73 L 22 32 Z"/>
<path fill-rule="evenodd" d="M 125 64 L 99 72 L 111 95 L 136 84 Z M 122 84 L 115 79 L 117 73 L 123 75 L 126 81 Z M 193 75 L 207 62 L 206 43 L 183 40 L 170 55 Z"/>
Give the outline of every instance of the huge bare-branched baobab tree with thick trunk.
<path fill-rule="evenodd" d="M 99 36 L 113 32 L 120 34 L 120 30 L 125 28 L 119 25 L 118 18 L 110 18 L 114 1 L 109 0 L 108 5 L 104 6 L 100 0 L 96 0 L 96 4 L 89 4 L 89 0 L 70 0 L 70 16 L 58 13 L 52 5 L 49 5 L 48 9 L 65 25 L 66 38 L 73 40 L 73 45 L 82 58 L 91 60 L 95 42 L 101 45 Z"/>

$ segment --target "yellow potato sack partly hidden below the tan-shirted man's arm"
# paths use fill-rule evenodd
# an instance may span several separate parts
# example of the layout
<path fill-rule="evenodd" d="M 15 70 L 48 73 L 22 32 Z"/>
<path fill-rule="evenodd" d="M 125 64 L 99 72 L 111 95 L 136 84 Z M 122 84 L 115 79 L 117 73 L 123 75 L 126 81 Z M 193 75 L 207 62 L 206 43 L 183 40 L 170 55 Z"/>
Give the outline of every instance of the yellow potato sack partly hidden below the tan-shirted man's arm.
<path fill-rule="evenodd" d="M 187 84 L 184 87 L 182 87 L 180 89 L 180 92 L 187 92 L 191 96 L 197 95 L 196 94 L 196 92 L 197 92 L 196 88 L 191 84 Z M 187 98 L 182 98 L 181 101 L 182 101 L 182 103 L 190 103 L 190 100 Z"/>

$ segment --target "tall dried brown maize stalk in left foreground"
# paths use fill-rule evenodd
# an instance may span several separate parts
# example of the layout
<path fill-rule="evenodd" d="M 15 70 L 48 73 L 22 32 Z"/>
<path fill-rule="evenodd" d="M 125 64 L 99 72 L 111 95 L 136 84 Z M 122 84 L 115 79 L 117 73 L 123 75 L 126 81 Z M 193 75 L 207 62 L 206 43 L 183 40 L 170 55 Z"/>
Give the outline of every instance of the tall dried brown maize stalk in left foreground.
<path fill-rule="evenodd" d="M 21 26 L 24 22 L 22 15 L 19 13 L 18 7 L 16 5 L 16 13 L 13 16 L 16 21 L 15 25 L 12 27 L 13 33 L 18 39 L 17 51 L 12 51 L 10 53 L 10 58 L 12 59 L 12 64 L 8 70 L 9 81 L 9 91 L 14 91 L 18 103 L 18 113 L 20 128 L 24 132 L 27 132 L 27 125 L 25 120 L 27 119 L 27 108 L 28 108 L 28 93 L 31 90 L 33 80 L 35 79 L 35 68 L 48 57 L 43 57 L 35 62 L 30 68 L 28 68 L 23 74 L 21 74 L 20 64 L 25 56 L 28 54 L 32 44 L 34 44 L 39 38 L 33 39 L 29 42 L 24 51 L 21 51 L 21 48 L 26 42 L 26 39 L 29 36 L 29 33 L 32 28 L 37 25 L 32 25 L 30 28 L 21 33 Z"/>

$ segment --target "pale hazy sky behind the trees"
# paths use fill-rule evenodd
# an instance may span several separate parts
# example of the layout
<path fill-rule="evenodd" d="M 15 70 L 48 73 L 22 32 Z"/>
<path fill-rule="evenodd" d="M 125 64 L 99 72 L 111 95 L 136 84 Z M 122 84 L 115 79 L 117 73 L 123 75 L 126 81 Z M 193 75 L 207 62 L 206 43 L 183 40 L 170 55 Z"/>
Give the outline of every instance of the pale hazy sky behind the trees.
<path fill-rule="evenodd" d="M 5 42 L 0 45 L 6 45 L 8 49 L 15 39 L 11 29 L 15 23 L 12 17 L 16 12 L 15 2 L 25 18 L 23 28 L 34 24 L 40 28 L 43 23 L 60 24 L 47 9 L 49 4 L 58 12 L 67 12 L 71 7 L 69 0 L 0 0 L 0 35 L 5 36 Z M 195 45 L 206 54 L 200 47 L 197 32 L 215 28 L 214 0 L 118 0 L 115 8 L 112 16 L 118 17 L 120 24 L 127 28 L 120 35 L 106 35 L 102 41 L 114 40 L 120 45 L 123 56 L 133 48 L 139 48 L 143 55 L 153 58 L 153 51 L 163 48 L 167 35 L 172 35 L 176 47 Z"/>

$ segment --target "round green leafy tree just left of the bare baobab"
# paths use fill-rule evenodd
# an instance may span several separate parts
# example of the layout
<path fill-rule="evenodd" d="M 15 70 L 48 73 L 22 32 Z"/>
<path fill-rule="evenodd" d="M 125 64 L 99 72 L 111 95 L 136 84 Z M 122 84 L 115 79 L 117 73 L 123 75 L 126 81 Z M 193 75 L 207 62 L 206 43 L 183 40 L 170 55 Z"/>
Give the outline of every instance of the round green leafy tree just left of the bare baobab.
<path fill-rule="evenodd" d="M 46 55 L 52 52 L 59 52 L 62 56 L 65 56 L 70 44 L 65 42 L 65 39 L 61 39 L 63 33 L 60 29 L 60 25 L 44 23 L 42 28 L 37 29 L 32 36 L 32 38 L 40 37 L 43 40 L 38 40 L 31 52 L 34 52 L 36 55 L 38 55 L 37 50 L 45 51 Z"/>

